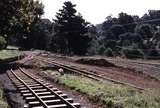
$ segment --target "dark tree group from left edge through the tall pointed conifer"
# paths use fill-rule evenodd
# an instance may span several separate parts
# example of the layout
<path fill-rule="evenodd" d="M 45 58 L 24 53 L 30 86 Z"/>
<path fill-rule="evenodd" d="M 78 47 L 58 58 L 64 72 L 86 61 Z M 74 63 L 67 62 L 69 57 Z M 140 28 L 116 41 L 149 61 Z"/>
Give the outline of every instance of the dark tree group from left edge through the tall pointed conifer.
<path fill-rule="evenodd" d="M 0 35 L 8 44 L 21 49 L 50 50 L 67 55 L 85 55 L 91 38 L 90 24 L 77 12 L 74 4 L 64 2 L 51 22 L 42 19 L 44 6 L 38 0 L 0 1 Z M 2 44 L 2 45 L 1 45 Z M 1 49 L 2 49 L 1 48 Z"/>

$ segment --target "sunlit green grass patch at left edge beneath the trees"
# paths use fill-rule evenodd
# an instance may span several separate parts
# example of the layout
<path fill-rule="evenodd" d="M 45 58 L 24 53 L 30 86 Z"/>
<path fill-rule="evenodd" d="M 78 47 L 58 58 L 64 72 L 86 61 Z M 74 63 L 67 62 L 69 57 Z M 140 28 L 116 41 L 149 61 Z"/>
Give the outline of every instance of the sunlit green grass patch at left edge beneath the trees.
<path fill-rule="evenodd" d="M 0 60 L 14 58 L 20 55 L 22 55 L 22 53 L 18 50 L 9 50 L 9 49 L 0 50 Z"/>

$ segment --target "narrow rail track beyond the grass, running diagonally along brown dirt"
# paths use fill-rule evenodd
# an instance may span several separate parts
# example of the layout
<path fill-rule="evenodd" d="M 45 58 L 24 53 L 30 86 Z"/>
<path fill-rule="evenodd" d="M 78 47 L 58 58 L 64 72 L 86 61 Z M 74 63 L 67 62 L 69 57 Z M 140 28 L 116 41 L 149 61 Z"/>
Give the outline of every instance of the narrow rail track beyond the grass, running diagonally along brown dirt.
<path fill-rule="evenodd" d="M 77 68 L 74 68 L 74 67 L 64 65 L 62 63 L 57 63 L 57 62 L 52 61 L 52 60 L 48 61 L 48 60 L 43 59 L 42 57 L 36 56 L 34 59 L 39 60 L 39 61 L 43 61 L 43 62 L 48 63 L 48 64 L 53 64 L 54 66 L 62 68 L 62 69 L 66 70 L 66 71 L 69 71 L 71 73 L 76 73 L 76 74 L 79 74 L 79 75 L 82 75 L 82 76 L 85 76 L 85 77 L 88 77 L 88 78 L 91 78 L 91 79 L 94 79 L 94 80 L 97 80 L 97 81 L 107 80 L 107 81 L 111 81 L 111 82 L 122 84 L 122 85 L 128 85 L 128 86 L 136 88 L 138 90 L 146 90 L 145 88 L 137 87 L 133 84 L 129 84 L 129 83 L 118 81 L 118 80 L 111 79 L 111 78 L 107 78 L 107 77 L 105 77 L 104 75 L 101 75 L 101 74 L 96 74 L 96 73 L 89 72 L 89 71 L 86 71 L 86 70 L 80 70 L 80 69 L 77 69 Z"/>

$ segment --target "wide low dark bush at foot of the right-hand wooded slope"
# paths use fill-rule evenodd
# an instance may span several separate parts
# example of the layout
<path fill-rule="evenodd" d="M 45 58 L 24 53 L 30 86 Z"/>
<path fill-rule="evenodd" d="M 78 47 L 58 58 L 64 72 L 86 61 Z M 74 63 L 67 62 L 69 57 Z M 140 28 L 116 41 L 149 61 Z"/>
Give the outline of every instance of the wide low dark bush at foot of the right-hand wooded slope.
<path fill-rule="evenodd" d="M 129 59 L 144 58 L 144 53 L 140 49 L 122 49 L 122 54 Z"/>

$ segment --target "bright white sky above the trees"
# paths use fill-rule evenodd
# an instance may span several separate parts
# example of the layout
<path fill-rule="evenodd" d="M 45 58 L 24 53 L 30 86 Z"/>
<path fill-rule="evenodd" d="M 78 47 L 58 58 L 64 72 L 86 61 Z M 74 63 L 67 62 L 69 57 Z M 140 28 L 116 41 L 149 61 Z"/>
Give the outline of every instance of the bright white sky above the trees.
<path fill-rule="evenodd" d="M 67 0 L 40 0 L 44 4 L 44 18 L 52 20 L 56 12 L 62 9 Z M 76 9 L 86 21 L 92 24 L 102 23 L 109 15 L 114 17 L 125 12 L 130 15 L 142 16 L 148 10 L 160 10 L 160 0 L 69 0 L 76 4 Z"/>

